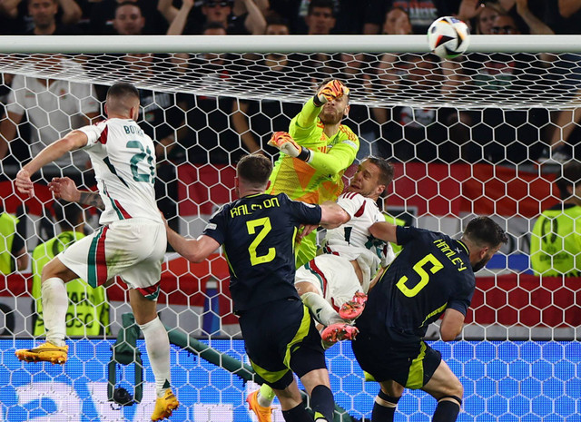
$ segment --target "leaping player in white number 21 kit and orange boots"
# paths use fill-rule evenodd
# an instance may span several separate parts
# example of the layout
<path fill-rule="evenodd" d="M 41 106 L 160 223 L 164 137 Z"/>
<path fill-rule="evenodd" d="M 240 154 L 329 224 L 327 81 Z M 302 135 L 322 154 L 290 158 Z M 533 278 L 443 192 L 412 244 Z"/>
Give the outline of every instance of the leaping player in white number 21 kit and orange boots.
<path fill-rule="evenodd" d="M 129 301 L 142 329 L 155 376 L 157 401 L 152 420 L 169 417 L 178 407 L 170 377 L 170 342 L 156 303 L 162 260 L 167 247 L 165 226 L 155 204 L 155 153 L 152 139 L 134 120 L 139 93 L 130 83 L 115 83 L 107 92 L 108 119 L 69 132 L 50 144 L 16 175 L 19 191 L 33 195 L 31 175 L 65 153 L 89 153 L 104 211 L 103 227 L 75 242 L 44 266 L 41 298 L 46 342 L 16 350 L 25 361 L 64 364 L 68 299 L 64 283 L 81 278 L 96 287 L 120 276 L 130 288 Z"/>

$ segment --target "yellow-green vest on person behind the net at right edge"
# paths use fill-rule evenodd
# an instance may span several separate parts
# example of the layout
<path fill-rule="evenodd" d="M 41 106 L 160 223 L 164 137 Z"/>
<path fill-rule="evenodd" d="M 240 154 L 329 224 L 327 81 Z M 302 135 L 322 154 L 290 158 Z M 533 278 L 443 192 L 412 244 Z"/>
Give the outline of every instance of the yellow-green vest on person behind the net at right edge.
<path fill-rule="evenodd" d="M 581 207 L 557 204 L 543 211 L 530 240 L 535 274 L 581 276 Z"/>

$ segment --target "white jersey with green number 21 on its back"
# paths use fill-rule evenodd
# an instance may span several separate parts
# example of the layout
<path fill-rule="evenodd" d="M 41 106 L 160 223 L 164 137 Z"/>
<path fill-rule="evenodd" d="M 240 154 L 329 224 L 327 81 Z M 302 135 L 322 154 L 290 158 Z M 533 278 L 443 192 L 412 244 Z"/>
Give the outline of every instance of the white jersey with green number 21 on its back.
<path fill-rule="evenodd" d="M 84 147 L 93 163 L 105 204 L 100 223 L 144 218 L 162 222 L 155 202 L 155 147 L 152 138 L 129 119 L 108 119 L 84 126 Z"/>

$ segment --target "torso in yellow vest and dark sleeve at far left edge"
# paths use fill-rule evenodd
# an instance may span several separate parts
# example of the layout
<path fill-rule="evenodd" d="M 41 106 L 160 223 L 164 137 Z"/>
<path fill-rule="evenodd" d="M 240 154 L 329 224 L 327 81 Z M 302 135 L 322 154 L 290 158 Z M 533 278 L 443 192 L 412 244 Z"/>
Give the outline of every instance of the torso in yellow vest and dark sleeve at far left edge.
<path fill-rule="evenodd" d="M 19 212 L 21 214 L 22 212 Z M 26 270 L 25 221 L 0 208 L 0 274 Z"/>

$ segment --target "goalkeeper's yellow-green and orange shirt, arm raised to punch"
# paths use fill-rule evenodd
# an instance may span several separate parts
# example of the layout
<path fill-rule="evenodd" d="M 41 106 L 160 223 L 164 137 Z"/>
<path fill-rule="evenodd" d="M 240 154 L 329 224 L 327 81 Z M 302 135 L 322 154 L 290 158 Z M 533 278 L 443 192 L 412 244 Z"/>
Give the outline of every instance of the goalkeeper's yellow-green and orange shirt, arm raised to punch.
<path fill-rule="evenodd" d="M 310 163 L 281 152 L 271 174 L 271 195 L 286 193 L 292 200 L 308 203 L 336 201 L 343 191 L 343 172 L 355 160 L 359 138 L 344 124 L 328 137 L 319 119 L 320 107 L 310 99 L 292 120 L 289 133 L 295 142 L 310 149 Z"/>

